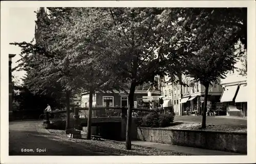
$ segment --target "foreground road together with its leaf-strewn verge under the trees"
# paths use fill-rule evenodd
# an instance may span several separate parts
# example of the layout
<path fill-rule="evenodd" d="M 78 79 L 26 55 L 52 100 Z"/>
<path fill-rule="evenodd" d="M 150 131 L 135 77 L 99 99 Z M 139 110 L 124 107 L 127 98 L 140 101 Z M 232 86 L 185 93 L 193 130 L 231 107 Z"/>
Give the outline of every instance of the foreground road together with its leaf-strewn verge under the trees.
<path fill-rule="evenodd" d="M 41 123 L 41 121 L 10 122 L 9 155 L 191 155 L 172 149 L 148 148 L 148 146 L 145 148 L 143 145 L 133 145 L 132 150 L 125 150 L 123 143 L 68 138 L 65 131 L 46 130 L 41 127 Z M 24 149 L 30 152 L 23 152 Z"/>

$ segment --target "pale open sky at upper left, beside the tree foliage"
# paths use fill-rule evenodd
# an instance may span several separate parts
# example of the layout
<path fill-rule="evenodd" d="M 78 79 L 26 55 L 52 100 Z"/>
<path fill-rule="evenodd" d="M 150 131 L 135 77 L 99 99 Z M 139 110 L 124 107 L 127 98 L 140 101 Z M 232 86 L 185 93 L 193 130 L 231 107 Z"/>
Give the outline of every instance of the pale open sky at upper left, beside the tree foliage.
<path fill-rule="evenodd" d="M 35 20 L 37 8 L 10 8 L 9 9 L 9 43 L 10 42 L 30 42 L 34 38 Z M 18 65 L 17 61 L 21 58 L 20 48 L 15 45 L 9 45 L 9 54 L 16 54 L 12 58 L 12 68 Z M 25 72 L 12 73 L 17 78 L 22 78 Z"/>

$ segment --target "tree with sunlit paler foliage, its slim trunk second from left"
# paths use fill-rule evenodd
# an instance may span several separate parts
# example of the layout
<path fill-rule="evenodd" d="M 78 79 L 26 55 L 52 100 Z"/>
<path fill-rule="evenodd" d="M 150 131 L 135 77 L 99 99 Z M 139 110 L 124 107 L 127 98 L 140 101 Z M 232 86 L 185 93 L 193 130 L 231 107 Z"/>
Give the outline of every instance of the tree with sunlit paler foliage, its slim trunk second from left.
<path fill-rule="evenodd" d="M 51 10 L 55 10 L 49 8 Z M 99 21 L 100 10 L 96 8 L 63 8 L 68 10 L 68 21 L 62 22 L 51 37 L 61 38 L 51 44 L 52 52 L 65 51 L 76 86 L 89 93 L 89 116 L 87 138 L 91 138 L 92 98 L 95 91 L 121 89 L 113 69 L 112 54 L 108 51 L 109 39 L 104 35 L 110 26 Z M 53 29 L 54 30 L 54 29 Z M 103 60 L 102 60 L 103 59 Z"/>

